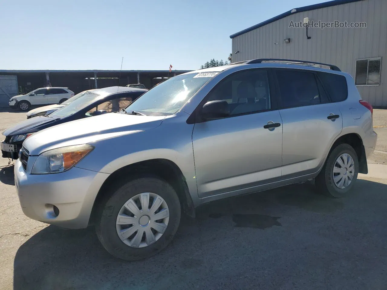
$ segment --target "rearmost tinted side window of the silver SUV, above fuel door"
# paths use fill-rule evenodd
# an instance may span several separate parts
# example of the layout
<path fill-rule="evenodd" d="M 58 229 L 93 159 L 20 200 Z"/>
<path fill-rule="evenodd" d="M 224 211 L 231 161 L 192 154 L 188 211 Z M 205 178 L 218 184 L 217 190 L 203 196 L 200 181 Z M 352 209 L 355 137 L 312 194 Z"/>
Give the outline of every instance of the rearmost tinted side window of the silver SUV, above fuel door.
<path fill-rule="evenodd" d="M 343 75 L 319 72 L 319 77 L 332 102 L 341 102 L 347 98 L 347 80 Z"/>

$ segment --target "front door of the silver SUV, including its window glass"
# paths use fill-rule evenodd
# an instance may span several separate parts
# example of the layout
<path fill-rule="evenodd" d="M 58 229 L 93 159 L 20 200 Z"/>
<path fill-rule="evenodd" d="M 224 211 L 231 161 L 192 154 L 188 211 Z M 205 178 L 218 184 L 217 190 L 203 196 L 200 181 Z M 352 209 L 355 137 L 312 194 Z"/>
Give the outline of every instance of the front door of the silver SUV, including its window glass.
<path fill-rule="evenodd" d="M 281 178 L 282 121 L 269 79 L 264 69 L 238 71 L 206 96 L 205 101 L 227 100 L 231 114 L 194 125 L 192 142 L 200 198 L 253 192 L 255 186 Z"/>

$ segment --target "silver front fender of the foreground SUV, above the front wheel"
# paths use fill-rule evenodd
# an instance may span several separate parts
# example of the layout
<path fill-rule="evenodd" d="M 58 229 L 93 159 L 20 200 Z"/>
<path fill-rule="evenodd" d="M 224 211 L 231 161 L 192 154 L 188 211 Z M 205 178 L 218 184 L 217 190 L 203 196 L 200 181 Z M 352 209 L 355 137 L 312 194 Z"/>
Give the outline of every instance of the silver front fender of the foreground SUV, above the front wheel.
<path fill-rule="evenodd" d="M 187 124 L 185 119 L 182 122 L 180 118 L 175 117 L 150 130 L 91 142 L 89 144 L 95 149 L 76 167 L 112 174 L 127 165 L 152 159 L 166 159 L 179 167 L 194 204 L 198 204 L 192 147 L 194 125 Z"/>

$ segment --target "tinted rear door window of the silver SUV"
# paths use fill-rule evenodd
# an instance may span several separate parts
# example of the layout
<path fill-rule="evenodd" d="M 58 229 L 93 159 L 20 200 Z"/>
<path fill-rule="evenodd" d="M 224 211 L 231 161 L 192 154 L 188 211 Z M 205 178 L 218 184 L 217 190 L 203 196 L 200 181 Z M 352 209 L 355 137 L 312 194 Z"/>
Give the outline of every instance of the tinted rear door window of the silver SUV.
<path fill-rule="evenodd" d="M 276 74 L 282 107 L 302 107 L 321 102 L 314 73 L 278 70 Z"/>

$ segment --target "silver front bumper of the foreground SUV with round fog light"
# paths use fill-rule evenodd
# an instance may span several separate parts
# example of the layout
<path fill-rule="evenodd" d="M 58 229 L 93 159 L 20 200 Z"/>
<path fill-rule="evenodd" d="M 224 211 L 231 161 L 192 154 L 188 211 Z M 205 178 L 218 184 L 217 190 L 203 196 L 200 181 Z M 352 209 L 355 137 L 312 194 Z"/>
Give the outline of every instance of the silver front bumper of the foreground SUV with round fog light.
<path fill-rule="evenodd" d="M 26 171 L 36 157 L 29 157 Z M 15 187 L 24 214 L 68 229 L 86 228 L 99 189 L 109 174 L 73 167 L 55 174 L 28 174 L 15 162 Z M 56 206 L 58 211 L 53 210 Z"/>

